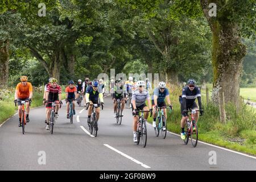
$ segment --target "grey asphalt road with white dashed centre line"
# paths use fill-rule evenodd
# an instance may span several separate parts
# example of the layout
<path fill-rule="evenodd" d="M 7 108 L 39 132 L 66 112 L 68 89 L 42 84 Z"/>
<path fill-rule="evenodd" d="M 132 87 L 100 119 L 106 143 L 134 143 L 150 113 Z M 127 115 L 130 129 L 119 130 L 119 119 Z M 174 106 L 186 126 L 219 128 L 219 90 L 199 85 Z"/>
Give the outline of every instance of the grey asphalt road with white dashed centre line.
<path fill-rule="evenodd" d="M 255 170 L 256 158 L 204 143 L 192 147 L 179 136 L 155 137 L 147 123 L 147 146 L 133 142 L 130 109 L 115 123 L 113 102 L 105 98 L 97 137 L 88 134 L 87 110 L 76 107 L 73 124 L 59 111 L 53 134 L 45 129 L 45 108 L 31 110 L 26 134 L 18 127 L 18 115 L 0 127 L 0 171 L 2 170 Z M 84 127 L 84 128 L 83 128 Z M 87 133 L 86 133 L 87 131 Z"/>

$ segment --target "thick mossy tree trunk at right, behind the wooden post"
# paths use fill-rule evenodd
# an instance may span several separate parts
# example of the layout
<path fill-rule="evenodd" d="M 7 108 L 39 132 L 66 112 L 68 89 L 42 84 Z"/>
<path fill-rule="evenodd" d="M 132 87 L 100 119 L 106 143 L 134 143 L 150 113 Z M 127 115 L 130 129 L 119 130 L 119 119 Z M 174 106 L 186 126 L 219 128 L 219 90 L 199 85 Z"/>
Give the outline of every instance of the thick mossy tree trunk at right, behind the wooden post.
<path fill-rule="evenodd" d="M 237 26 L 227 22 L 215 21 L 213 32 L 213 102 L 218 104 L 218 92 L 224 92 L 225 104 L 232 102 L 240 109 L 240 75 L 242 58 L 246 47 L 238 36 Z"/>

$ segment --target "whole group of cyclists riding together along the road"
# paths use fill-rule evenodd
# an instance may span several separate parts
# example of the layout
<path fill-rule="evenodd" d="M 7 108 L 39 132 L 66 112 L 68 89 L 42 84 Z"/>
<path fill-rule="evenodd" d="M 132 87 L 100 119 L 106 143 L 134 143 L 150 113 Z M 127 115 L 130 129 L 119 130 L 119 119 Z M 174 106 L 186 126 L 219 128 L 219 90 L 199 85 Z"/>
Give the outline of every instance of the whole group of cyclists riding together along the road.
<path fill-rule="evenodd" d="M 146 79 L 146 83 L 143 80 L 133 80 L 133 77 L 129 77 L 129 80 L 123 81 L 122 78 L 118 80 L 111 79 L 109 83 L 110 94 L 112 100 L 114 101 L 114 117 L 117 117 L 117 100 L 121 101 L 121 110 L 124 109 L 125 102 L 128 98 L 131 99 L 131 112 L 133 115 L 133 141 L 137 142 L 137 122 L 138 122 L 138 111 L 151 111 L 153 113 L 153 122 L 152 126 L 156 127 L 156 111 L 158 107 L 166 107 L 166 101 L 168 107 L 172 109 L 172 104 L 170 101 L 170 92 L 166 87 L 165 82 L 159 82 L 157 88 L 154 89 L 152 96 L 150 96 L 151 89 L 150 82 Z M 98 80 L 97 78 L 93 81 L 90 81 L 88 77 L 85 78 L 85 81 L 77 81 L 77 85 L 73 80 L 68 82 L 67 88 L 65 88 L 65 102 L 67 103 L 67 118 L 69 118 L 69 104 L 73 102 L 73 114 L 76 114 L 75 111 L 75 101 L 78 102 L 77 98 L 80 97 L 80 94 L 84 98 L 84 103 L 88 108 L 88 125 L 90 125 L 90 117 L 92 114 L 93 104 L 100 104 L 102 108 L 104 106 L 104 93 L 105 93 L 106 82 L 103 79 Z M 61 86 L 57 84 L 56 78 L 49 78 L 48 83 L 44 88 L 43 95 L 43 104 L 46 106 L 46 129 L 49 130 L 49 118 L 51 114 L 51 106 L 54 102 L 55 107 L 55 119 L 59 117 L 58 111 L 60 109 L 62 98 L 61 98 Z M 17 101 L 30 101 L 32 99 L 32 84 L 28 82 L 27 76 L 20 77 L 20 82 L 16 86 L 15 90 L 15 100 Z M 187 85 L 184 86 L 182 90 L 182 95 L 180 96 L 180 111 L 181 111 L 181 139 L 185 139 L 184 126 L 187 119 L 187 110 L 188 109 L 198 109 L 198 106 L 195 100 L 199 102 L 200 114 L 203 115 L 204 110 L 202 109 L 201 104 L 201 93 L 199 86 L 196 86 L 196 81 L 189 79 Z M 147 105 L 146 105 L 147 101 Z M 30 102 L 26 102 L 26 121 L 30 122 L 29 111 L 30 111 Z M 167 109 L 164 109 L 164 116 L 167 119 Z M 21 113 L 22 108 L 20 102 L 18 102 L 18 114 L 19 114 L 19 126 L 21 126 Z M 97 120 L 100 118 L 100 107 L 96 108 L 96 117 Z M 148 118 L 148 112 L 144 114 L 144 119 Z M 195 114 L 196 121 L 199 118 L 199 114 Z M 163 126 L 163 130 L 166 130 L 166 127 Z"/>

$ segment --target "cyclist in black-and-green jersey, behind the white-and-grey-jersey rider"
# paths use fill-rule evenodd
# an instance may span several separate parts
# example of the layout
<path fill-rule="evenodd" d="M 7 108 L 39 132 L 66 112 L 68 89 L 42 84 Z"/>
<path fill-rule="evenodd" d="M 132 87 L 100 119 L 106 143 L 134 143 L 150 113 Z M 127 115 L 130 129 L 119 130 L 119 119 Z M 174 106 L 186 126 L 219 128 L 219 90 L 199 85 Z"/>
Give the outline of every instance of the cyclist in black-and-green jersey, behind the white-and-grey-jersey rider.
<path fill-rule="evenodd" d="M 121 102 L 121 110 L 123 111 L 123 107 L 125 107 L 126 100 L 126 90 L 125 86 L 122 85 L 122 80 L 117 81 L 117 85 L 114 86 L 114 118 L 117 117 L 117 100 L 119 99 Z"/>

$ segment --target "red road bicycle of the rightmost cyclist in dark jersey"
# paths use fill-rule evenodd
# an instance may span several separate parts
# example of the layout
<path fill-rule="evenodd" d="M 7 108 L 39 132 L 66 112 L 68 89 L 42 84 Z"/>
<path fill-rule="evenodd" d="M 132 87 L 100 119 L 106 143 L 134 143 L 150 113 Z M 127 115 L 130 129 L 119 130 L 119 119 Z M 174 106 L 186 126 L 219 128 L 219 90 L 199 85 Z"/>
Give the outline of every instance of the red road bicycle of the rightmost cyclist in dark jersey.
<path fill-rule="evenodd" d="M 187 119 L 187 125 L 185 126 L 185 139 L 184 143 L 188 144 L 189 136 L 191 137 L 191 143 L 193 147 L 196 147 L 197 139 L 198 139 L 198 127 L 197 127 L 197 121 L 195 121 L 194 115 L 196 112 L 199 112 L 200 110 L 190 109 L 186 110 L 186 119 Z M 188 113 L 191 112 L 191 120 L 189 121 Z"/>

